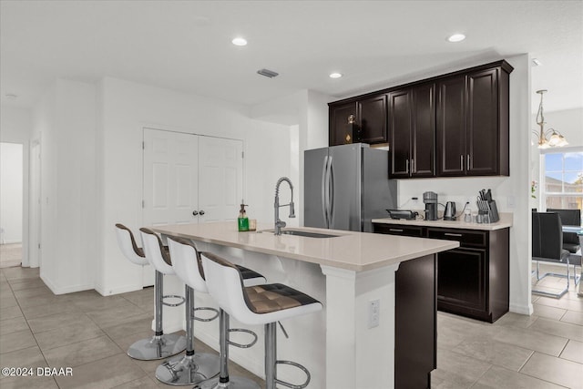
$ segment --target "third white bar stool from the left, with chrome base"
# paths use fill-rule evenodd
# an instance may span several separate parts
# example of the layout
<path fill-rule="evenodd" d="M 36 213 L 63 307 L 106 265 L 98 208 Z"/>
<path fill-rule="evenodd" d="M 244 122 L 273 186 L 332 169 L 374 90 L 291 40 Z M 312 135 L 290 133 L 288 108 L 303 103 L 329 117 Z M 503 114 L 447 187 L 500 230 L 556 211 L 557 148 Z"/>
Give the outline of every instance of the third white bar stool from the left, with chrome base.
<path fill-rule="evenodd" d="M 202 261 L 200 259 L 199 251 L 196 246 L 189 240 L 169 237 L 169 250 L 172 258 L 173 266 L 176 267 L 176 273 L 190 288 L 196 292 L 208 293 L 207 282 L 205 282 L 204 271 L 202 269 Z M 265 283 L 263 277 L 257 271 L 252 271 L 243 266 L 235 265 L 240 271 L 242 282 L 245 285 L 259 285 Z M 188 324 L 187 324 L 188 325 Z M 188 331 L 188 330 L 187 330 Z M 249 333 L 254 337 L 254 340 L 248 344 L 233 343 L 229 340 L 229 333 L 243 332 Z M 205 383 L 200 387 L 220 387 L 220 388 L 257 388 L 257 384 L 253 381 L 239 376 L 229 375 L 229 348 L 228 345 L 234 345 L 240 348 L 248 348 L 257 342 L 257 334 L 250 330 L 242 328 L 229 328 L 229 315 L 220 310 L 220 377 L 219 382 L 212 380 L 212 382 Z M 187 348 L 187 353 L 188 353 Z"/>

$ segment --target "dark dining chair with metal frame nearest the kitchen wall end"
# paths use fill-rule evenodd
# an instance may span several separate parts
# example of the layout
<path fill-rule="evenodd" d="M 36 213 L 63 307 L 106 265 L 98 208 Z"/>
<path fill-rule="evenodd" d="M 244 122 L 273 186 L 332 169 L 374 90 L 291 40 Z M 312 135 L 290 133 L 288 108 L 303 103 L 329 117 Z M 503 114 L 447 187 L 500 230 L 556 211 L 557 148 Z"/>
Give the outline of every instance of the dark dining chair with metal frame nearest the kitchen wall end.
<path fill-rule="evenodd" d="M 533 294 L 538 294 L 547 297 L 561 298 L 568 292 L 569 287 L 569 251 L 563 249 L 563 230 L 561 218 L 557 212 L 532 212 L 532 260 L 537 261 L 537 282 L 545 277 L 552 275 L 560 278 L 567 278 L 567 286 L 560 292 L 547 292 L 540 289 L 535 289 L 533 286 Z M 567 275 L 547 272 L 540 276 L 539 262 L 554 262 L 566 263 Z"/>

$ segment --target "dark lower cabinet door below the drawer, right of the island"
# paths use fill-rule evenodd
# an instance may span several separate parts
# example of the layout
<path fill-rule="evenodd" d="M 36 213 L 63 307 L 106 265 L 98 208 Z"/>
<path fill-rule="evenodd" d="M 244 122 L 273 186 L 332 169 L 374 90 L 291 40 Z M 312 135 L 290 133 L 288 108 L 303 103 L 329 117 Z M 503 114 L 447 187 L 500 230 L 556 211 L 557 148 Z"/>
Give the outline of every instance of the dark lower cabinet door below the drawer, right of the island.
<path fill-rule="evenodd" d="M 437 255 L 437 302 L 486 311 L 486 250 L 458 248 Z"/>

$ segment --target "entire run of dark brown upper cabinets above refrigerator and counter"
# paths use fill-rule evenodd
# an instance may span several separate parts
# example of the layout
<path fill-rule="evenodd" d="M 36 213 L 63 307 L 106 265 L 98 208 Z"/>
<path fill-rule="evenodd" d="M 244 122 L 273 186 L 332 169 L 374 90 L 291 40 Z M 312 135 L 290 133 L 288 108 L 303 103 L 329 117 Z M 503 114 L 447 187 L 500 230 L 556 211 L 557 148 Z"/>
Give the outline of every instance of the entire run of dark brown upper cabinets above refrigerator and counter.
<path fill-rule="evenodd" d="M 512 70 L 502 60 L 330 103 L 330 145 L 352 114 L 353 141 L 389 143 L 391 178 L 508 176 Z"/>

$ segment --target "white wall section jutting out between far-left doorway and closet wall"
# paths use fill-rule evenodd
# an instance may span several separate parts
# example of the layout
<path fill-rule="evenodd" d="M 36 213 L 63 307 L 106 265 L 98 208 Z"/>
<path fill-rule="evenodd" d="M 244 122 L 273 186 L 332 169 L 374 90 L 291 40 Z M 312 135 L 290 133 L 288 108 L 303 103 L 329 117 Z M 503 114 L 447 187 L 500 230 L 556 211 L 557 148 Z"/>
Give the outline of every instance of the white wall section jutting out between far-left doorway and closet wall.
<path fill-rule="evenodd" d="M 92 289 L 96 261 L 96 88 L 56 80 L 34 110 L 42 187 L 40 277 L 56 294 Z"/>

